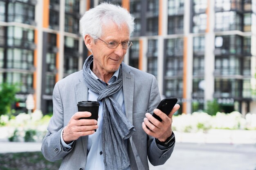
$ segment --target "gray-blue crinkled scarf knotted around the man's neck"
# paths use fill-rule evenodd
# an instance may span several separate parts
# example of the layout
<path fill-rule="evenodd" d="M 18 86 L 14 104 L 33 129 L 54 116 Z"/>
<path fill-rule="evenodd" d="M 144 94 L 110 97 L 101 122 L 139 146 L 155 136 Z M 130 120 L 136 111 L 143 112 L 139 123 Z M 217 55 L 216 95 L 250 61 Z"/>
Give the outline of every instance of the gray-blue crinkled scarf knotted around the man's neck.
<path fill-rule="evenodd" d="M 86 86 L 98 93 L 98 101 L 102 101 L 103 128 L 102 148 L 106 170 L 123 170 L 130 166 L 124 139 L 128 139 L 135 132 L 134 126 L 128 121 L 121 106 L 112 95 L 122 88 L 122 67 L 120 66 L 117 81 L 104 86 L 90 73 L 93 55 L 90 55 L 83 65 L 83 77 Z"/>

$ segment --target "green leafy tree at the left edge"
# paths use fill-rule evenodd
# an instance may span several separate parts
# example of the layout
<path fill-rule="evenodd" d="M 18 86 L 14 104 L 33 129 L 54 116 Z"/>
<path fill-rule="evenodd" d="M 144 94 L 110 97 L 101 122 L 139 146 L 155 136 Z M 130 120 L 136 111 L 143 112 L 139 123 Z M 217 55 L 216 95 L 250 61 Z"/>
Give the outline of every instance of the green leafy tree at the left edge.
<path fill-rule="evenodd" d="M 16 84 L 0 84 L 0 115 L 11 113 L 11 104 L 16 102 L 15 94 L 18 91 Z"/>

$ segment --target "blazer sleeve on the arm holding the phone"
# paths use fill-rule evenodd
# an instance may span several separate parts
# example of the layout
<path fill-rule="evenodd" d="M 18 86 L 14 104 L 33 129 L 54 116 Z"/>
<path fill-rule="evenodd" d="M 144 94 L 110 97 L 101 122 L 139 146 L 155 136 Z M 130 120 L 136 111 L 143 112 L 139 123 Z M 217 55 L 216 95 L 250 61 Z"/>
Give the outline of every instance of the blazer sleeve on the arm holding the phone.
<path fill-rule="evenodd" d="M 149 110 L 157 108 L 160 100 L 161 97 L 159 95 L 157 80 L 154 77 L 150 91 Z M 163 165 L 171 157 L 174 145 L 175 144 L 173 144 L 173 146 L 170 148 L 161 150 L 157 147 L 155 138 L 148 136 L 148 160 L 153 166 Z"/>

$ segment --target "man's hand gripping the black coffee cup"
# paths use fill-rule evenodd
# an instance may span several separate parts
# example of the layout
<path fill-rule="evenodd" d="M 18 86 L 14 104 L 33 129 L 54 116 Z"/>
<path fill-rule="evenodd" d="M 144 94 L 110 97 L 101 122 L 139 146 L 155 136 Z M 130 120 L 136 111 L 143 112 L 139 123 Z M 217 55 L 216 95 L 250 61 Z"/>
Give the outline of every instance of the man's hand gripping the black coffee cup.
<path fill-rule="evenodd" d="M 95 119 L 80 119 L 90 117 L 90 112 L 76 112 L 63 130 L 63 140 L 66 144 L 78 139 L 81 136 L 92 135 L 99 126 Z"/>

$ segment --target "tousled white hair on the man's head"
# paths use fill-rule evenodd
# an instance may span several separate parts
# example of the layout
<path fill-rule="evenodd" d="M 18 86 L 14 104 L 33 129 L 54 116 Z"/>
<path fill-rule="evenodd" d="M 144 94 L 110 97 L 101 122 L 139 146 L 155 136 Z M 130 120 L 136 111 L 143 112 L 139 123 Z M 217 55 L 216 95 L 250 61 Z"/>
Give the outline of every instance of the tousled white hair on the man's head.
<path fill-rule="evenodd" d="M 101 37 L 102 26 L 109 24 L 111 21 L 117 24 L 119 28 L 122 24 L 127 24 L 130 35 L 134 30 L 134 17 L 126 9 L 105 2 L 86 11 L 80 19 L 83 37 L 86 34 L 94 39 Z"/>

